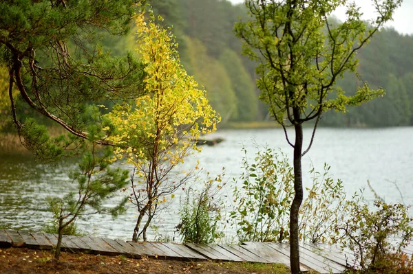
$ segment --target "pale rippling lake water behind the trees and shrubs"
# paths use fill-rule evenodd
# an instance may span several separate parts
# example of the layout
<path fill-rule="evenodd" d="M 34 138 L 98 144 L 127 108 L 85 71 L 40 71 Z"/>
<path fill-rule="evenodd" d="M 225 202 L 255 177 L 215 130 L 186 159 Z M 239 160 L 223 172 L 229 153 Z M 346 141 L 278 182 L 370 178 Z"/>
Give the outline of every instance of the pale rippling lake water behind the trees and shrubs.
<path fill-rule="evenodd" d="M 291 132 L 293 134 L 293 132 Z M 306 143 L 311 134 L 304 129 Z M 222 137 L 224 142 L 216 146 L 206 146 L 198 155 L 187 160 L 187 168 L 196 160 L 211 176 L 220 174 L 225 167 L 225 181 L 222 197 L 231 200 L 232 177 L 242 172 L 244 156 L 242 146 L 248 150 L 251 159 L 258 146 L 268 145 L 281 148 L 292 159 L 292 148 L 286 143 L 282 129 L 265 130 L 219 130 L 208 138 Z M 293 139 L 293 136 L 291 136 Z M 255 144 L 254 144 L 255 143 Z M 292 160 L 291 160 L 292 161 Z M 374 190 L 386 202 L 404 201 L 413 205 L 413 127 L 406 128 L 319 128 L 313 148 L 303 159 L 303 172 L 307 174 L 310 164 L 316 170 L 323 170 L 324 163 L 331 165 L 330 174 L 341 179 L 345 190 L 352 194 L 361 187 L 367 187 L 369 180 Z M 47 212 L 47 196 L 61 196 L 73 185 L 67 171 L 76 167 L 74 163 L 43 165 L 21 156 L 0 156 L 0 226 L 12 229 L 40 230 L 52 216 Z M 397 190 L 395 184 L 399 187 Z M 310 186 L 310 176 L 304 177 L 304 185 Z M 195 187 L 202 187 L 202 181 Z M 179 222 L 179 204 L 182 191 L 176 193 L 167 209 L 158 217 L 154 225 L 157 231 L 149 231 L 149 240 L 157 233 L 173 236 L 174 227 Z M 365 198 L 371 201 L 372 192 L 366 190 Z M 78 222 L 79 229 L 92 235 L 130 240 L 136 222 L 136 209 L 112 220 L 111 216 L 96 215 Z"/>

